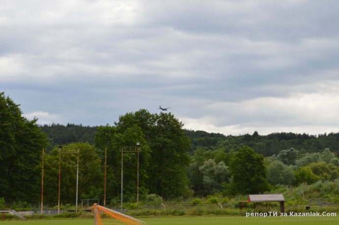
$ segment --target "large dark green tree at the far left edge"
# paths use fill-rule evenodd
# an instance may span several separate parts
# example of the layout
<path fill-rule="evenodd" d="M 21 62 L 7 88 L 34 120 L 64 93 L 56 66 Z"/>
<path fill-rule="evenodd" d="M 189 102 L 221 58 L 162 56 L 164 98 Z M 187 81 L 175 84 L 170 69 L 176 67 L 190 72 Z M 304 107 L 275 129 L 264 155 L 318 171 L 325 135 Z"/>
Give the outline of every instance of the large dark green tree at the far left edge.
<path fill-rule="evenodd" d="M 48 146 L 47 136 L 28 120 L 21 109 L 4 93 L 0 93 L 0 196 L 7 201 L 37 201 L 33 192 L 41 164 L 42 149 Z"/>

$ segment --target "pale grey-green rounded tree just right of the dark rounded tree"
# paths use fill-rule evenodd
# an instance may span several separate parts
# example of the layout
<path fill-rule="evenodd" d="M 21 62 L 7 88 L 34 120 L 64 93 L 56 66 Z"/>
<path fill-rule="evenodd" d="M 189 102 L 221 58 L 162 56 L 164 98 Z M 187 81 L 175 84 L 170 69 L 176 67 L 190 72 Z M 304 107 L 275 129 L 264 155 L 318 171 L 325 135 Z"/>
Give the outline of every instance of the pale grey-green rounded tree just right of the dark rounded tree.
<path fill-rule="evenodd" d="M 267 180 L 273 185 L 292 185 L 295 181 L 293 168 L 281 161 L 273 161 L 267 166 Z"/>

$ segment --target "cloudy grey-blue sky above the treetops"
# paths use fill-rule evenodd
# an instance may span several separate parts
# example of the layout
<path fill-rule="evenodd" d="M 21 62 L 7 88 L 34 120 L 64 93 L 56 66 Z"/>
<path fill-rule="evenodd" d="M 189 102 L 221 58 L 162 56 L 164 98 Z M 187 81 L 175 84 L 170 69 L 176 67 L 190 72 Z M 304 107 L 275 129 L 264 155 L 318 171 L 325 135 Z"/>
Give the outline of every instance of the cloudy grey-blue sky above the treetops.
<path fill-rule="evenodd" d="M 0 0 L 0 92 L 38 124 L 339 132 L 338 0 Z"/>

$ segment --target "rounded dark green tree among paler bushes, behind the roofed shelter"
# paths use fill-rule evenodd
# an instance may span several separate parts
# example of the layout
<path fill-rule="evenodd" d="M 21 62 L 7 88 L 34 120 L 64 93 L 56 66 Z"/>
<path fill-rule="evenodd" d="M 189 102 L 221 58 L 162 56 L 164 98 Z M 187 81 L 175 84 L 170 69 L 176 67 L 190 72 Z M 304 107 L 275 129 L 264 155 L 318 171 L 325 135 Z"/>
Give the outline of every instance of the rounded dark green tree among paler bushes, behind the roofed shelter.
<path fill-rule="evenodd" d="M 232 181 L 227 192 L 236 194 L 258 194 L 268 190 L 264 156 L 244 146 L 235 152 L 229 163 Z"/>

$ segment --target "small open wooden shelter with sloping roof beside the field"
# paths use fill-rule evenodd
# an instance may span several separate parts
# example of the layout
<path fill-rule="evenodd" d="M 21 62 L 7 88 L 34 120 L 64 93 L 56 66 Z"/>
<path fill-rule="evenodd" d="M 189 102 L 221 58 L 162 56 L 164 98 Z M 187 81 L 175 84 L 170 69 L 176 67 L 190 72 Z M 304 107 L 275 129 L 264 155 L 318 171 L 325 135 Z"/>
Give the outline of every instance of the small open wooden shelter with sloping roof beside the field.
<path fill-rule="evenodd" d="M 265 212 L 271 211 L 271 202 L 280 202 L 280 212 L 285 212 L 285 199 L 282 194 L 249 195 L 247 201 L 240 201 L 240 214 L 243 215 L 244 203 L 253 202 L 254 213 L 263 209 Z"/>

